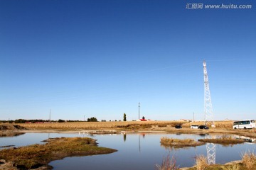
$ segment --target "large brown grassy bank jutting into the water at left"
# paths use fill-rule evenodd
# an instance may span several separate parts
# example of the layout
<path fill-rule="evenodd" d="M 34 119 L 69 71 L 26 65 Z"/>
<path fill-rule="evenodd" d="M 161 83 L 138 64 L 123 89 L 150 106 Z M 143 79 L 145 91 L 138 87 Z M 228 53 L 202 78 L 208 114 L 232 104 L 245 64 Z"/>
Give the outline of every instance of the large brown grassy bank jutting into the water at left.
<path fill-rule="evenodd" d="M 14 162 L 21 169 L 33 169 L 64 157 L 109 154 L 117 151 L 97 147 L 96 141 L 88 137 L 50 138 L 45 142 L 44 145 L 3 149 L 0 151 L 0 159 Z"/>

